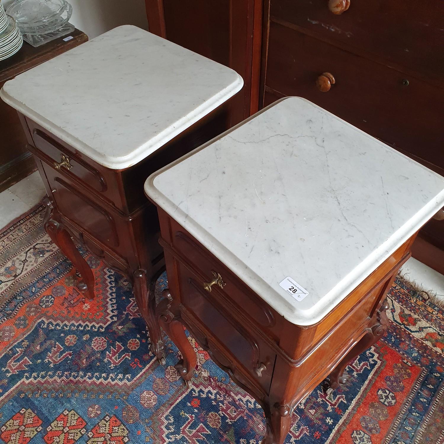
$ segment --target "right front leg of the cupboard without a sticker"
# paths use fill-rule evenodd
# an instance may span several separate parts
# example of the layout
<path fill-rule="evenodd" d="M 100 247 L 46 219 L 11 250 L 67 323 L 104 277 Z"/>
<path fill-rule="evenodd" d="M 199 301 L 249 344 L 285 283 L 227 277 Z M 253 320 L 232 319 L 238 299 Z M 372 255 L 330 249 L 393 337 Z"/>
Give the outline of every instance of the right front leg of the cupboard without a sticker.
<path fill-rule="evenodd" d="M 163 270 L 162 270 L 163 271 Z M 160 333 L 159 320 L 155 312 L 155 287 L 159 273 L 151 278 L 150 285 L 147 288 L 147 272 L 145 270 L 136 270 L 134 277 L 134 296 L 139 306 L 140 313 L 145 320 L 150 336 L 151 352 L 159 359 L 162 365 L 165 365 L 165 350 Z"/>

